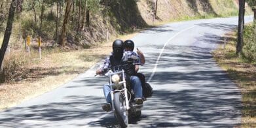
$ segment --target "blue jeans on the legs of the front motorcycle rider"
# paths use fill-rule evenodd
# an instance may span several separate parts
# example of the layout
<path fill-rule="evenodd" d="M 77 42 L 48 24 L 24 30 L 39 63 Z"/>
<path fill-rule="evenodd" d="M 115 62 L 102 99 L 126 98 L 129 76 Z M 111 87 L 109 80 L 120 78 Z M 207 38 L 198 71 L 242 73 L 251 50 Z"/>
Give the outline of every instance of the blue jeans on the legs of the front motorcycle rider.
<path fill-rule="evenodd" d="M 131 80 L 132 89 L 134 90 L 134 97 L 141 98 L 142 97 L 141 81 L 137 76 L 131 76 L 130 80 Z M 103 86 L 103 91 L 104 91 L 104 95 L 107 103 L 111 103 L 111 94 L 110 94 L 111 88 L 109 84 L 105 84 Z"/>

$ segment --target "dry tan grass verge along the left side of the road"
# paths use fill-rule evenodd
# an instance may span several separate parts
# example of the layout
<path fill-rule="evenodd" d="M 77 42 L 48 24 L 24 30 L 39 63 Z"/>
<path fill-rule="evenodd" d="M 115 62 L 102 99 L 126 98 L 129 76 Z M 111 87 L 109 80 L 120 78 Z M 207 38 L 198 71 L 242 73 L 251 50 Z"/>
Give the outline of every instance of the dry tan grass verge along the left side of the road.
<path fill-rule="evenodd" d="M 116 37 L 115 39 L 130 39 L 136 33 Z M 16 78 L 10 84 L 0 84 L 0 110 L 22 103 L 50 91 L 69 80 L 79 73 L 86 71 L 103 57 L 110 54 L 112 41 L 98 43 L 96 46 L 84 50 L 58 51 L 44 50 L 42 59 L 38 59 L 37 52 L 31 52 L 30 56 L 23 57 L 29 60 L 26 65 L 19 69 L 22 77 Z M 11 52 L 9 56 L 21 54 Z M 23 53 L 27 54 L 27 53 Z M 7 57 L 8 58 L 8 57 Z"/>

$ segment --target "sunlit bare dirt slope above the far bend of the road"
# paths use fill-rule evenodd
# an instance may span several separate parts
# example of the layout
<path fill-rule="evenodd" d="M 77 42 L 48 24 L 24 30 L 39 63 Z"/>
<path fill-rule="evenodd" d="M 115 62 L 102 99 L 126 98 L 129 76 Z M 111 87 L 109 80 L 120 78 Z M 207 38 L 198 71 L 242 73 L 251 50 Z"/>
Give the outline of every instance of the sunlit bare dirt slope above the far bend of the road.
<path fill-rule="evenodd" d="M 141 0 L 137 2 L 143 20 L 150 25 L 153 23 L 155 1 Z M 246 7 L 247 12 L 251 12 L 247 5 Z M 237 0 L 158 0 L 154 22 L 204 18 L 205 16 L 237 16 L 237 14 Z"/>

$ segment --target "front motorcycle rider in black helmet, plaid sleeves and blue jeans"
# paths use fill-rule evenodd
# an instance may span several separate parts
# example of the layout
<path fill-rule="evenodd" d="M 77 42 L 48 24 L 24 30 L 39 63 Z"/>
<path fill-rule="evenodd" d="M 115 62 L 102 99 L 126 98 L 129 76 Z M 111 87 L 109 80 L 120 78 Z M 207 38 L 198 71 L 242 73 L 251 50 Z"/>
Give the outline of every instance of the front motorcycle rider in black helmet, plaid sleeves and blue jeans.
<path fill-rule="evenodd" d="M 119 39 L 115 40 L 113 42 L 112 48 L 113 48 L 113 52 L 112 52 L 111 56 L 109 56 L 109 57 L 107 57 L 107 59 L 105 59 L 104 65 L 96 71 L 96 74 L 103 74 L 103 73 L 107 72 L 108 69 L 112 69 L 116 65 L 121 65 L 121 64 L 127 63 L 128 58 L 132 58 L 133 61 L 135 63 L 137 63 L 139 56 L 131 57 L 131 55 L 124 52 L 124 42 L 122 40 L 119 40 Z M 130 72 L 130 70 L 132 71 L 132 69 L 128 69 L 128 70 L 129 70 L 129 72 Z M 128 71 L 126 70 L 125 72 L 127 73 Z M 128 74 L 131 74 L 130 84 L 131 84 L 132 89 L 134 90 L 134 96 L 135 96 L 134 101 L 136 102 L 136 104 L 143 104 L 141 81 L 139 80 L 139 78 L 137 76 L 133 76 L 132 73 L 129 73 L 129 72 L 128 72 Z M 111 88 L 110 88 L 109 84 L 105 84 L 103 86 L 103 91 L 104 91 L 104 95 L 105 95 L 107 104 L 104 104 L 102 106 L 102 108 L 103 108 L 103 110 L 108 112 L 111 110 L 111 105 L 110 105 L 110 103 L 111 103 L 111 95 L 110 95 Z"/>

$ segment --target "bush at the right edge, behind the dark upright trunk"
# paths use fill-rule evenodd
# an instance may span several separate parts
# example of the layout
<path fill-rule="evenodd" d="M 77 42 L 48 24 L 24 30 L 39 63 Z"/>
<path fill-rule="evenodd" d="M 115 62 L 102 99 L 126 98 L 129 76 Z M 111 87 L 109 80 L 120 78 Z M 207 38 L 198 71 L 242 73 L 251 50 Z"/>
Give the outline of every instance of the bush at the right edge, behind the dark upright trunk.
<path fill-rule="evenodd" d="M 246 25 L 244 28 L 243 54 L 250 62 L 256 62 L 256 25 Z"/>

